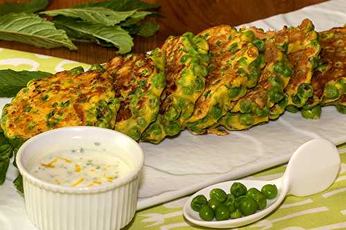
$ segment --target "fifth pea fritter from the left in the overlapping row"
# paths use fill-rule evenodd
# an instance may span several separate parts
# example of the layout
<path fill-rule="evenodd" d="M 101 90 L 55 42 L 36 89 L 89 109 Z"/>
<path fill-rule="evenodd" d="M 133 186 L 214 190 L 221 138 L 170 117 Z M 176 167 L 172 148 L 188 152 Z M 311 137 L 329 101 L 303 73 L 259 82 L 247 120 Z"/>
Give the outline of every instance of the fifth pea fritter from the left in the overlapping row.
<path fill-rule="evenodd" d="M 275 33 L 257 28 L 251 30 L 263 43 L 265 67 L 255 88 L 233 102 L 232 108 L 219 120 L 219 124 L 228 130 L 242 130 L 267 122 L 269 109 L 284 97 L 284 88 L 293 74 L 284 48 L 288 36 L 281 35 L 285 31 Z"/>

